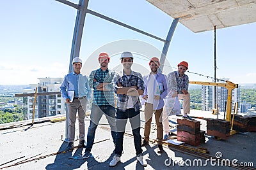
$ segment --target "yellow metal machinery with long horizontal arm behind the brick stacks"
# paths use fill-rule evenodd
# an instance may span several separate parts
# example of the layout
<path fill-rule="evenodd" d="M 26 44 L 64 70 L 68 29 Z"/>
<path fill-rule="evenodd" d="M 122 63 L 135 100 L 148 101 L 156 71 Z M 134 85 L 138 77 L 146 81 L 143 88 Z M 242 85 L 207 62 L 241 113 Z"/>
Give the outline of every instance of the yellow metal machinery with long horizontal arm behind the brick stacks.
<path fill-rule="evenodd" d="M 203 81 L 189 81 L 191 84 L 196 85 L 212 85 L 219 87 L 226 87 L 228 89 L 228 97 L 227 97 L 227 115 L 226 121 L 231 124 L 231 110 L 232 110 L 232 90 L 238 87 L 238 84 L 234 84 L 231 81 L 226 81 L 226 83 L 212 83 L 212 82 L 203 82 Z M 236 131 L 231 130 L 230 135 L 235 134 Z"/>

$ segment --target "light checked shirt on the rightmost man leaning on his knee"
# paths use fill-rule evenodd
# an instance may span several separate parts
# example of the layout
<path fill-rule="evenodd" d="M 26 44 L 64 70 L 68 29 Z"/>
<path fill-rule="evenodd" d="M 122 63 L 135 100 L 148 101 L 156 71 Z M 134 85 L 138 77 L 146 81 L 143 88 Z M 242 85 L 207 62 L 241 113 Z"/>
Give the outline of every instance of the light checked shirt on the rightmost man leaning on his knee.
<path fill-rule="evenodd" d="M 188 90 L 188 76 L 184 74 L 179 76 L 178 71 L 173 71 L 168 74 L 168 96 L 172 96 L 173 92 L 182 94 L 182 89 Z"/>

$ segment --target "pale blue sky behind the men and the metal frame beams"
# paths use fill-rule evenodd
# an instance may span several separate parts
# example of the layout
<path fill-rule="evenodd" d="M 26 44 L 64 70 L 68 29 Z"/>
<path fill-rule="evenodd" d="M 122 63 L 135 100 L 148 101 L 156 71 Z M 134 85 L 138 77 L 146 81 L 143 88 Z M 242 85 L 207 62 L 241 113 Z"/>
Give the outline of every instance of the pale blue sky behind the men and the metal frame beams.
<path fill-rule="evenodd" d="M 78 0 L 72 0 L 78 3 Z M 173 18 L 145 0 L 91 0 L 88 9 L 165 39 Z M 38 83 L 38 78 L 63 78 L 68 73 L 77 10 L 54 0 L 1 1 L 0 5 L 0 85 Z M 234 83 L 256 83 L 256 23 L 216 31 L 216 78 Z M 214 77 L 214 32 L 194 33 L 178 24 L 166 56 L 169 69 L 180 61 L 189 71 Z M 161 52 L 164 43 L 86 14 L 80 55 L 83 70 L 89 74 L 99 67 L 101 50 L 111 55 L 109 67 L 120 64 L 120 50 L 143 48 L 135 53 L 134 67 L 148 71 L 148 59 Z M 129 47 L 127 47 L 129 46 Z M 118 48 L 118 50 L 116 50 Z M 211 78 L 186 73 L 190 81 Z"/>

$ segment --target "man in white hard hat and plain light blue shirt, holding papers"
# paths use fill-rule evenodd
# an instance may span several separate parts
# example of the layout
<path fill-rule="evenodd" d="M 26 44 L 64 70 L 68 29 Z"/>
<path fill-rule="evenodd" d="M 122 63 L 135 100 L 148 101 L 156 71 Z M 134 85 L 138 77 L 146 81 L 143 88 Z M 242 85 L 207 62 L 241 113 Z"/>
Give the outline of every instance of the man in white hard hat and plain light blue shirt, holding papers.
<path fill-rule="evenodd" d="M 79 121 L 79 147 L 84 147 L 84 117 L 87 101 L 90 99 L 92 90 L 88 84 L 88 78 L 82 75 L 80 70 L 82 60 L 75 57 L 72 61 L 74 71 L 65 76 L 60 92 L 68 106 L 68 146 L 67 150 L 74 147 L 76 112 Z"/>

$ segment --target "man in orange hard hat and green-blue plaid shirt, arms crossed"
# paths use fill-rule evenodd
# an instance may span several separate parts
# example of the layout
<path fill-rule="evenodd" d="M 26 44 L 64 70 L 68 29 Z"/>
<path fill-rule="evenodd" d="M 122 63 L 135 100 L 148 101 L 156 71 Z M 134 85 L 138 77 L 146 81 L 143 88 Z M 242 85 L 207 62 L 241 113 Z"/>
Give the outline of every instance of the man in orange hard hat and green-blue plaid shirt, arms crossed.
<path fill-rule="evenodd" d="M 87 144 L 85 146 L 84 158 L 90 157 L 92 145 L 95 138 L 95 131 L 102 115 L 105 115 L 111 127 L 111 135 L 114 144 L 116 139 L 116 120 L 115 120 L 115 102 L 113 77 L 115 73 L 109 71 L 108 63 L 110 57 L 108 53 L 99 54 L 100 68 L 93 70 L 89 76 L 89 85 L 93 89 L 93 103 L 90 115 L 90 126 L 87 134 Z"/>

